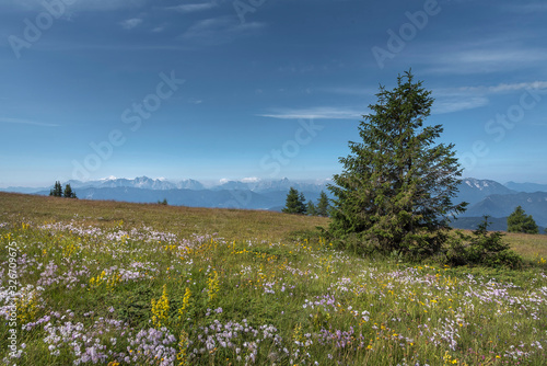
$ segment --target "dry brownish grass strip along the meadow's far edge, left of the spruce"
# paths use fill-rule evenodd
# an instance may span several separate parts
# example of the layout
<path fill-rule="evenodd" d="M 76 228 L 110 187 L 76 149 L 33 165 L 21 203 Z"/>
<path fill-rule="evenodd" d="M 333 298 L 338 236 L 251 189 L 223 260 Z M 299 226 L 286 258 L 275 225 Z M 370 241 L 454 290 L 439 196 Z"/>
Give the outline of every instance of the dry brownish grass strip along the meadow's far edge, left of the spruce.
<path fill-rule="evenodd" d="M 323 217 L 295 216 L 271 211 L 213 209 L 113 201 L 68 199 L 0 193 L 0 221 L 85 221 L 114 226 L 152 226 L 156 230 L 189 237 L 218 232 L 226 239 L 279 241 L 294 231 L 327 227 Z"/>

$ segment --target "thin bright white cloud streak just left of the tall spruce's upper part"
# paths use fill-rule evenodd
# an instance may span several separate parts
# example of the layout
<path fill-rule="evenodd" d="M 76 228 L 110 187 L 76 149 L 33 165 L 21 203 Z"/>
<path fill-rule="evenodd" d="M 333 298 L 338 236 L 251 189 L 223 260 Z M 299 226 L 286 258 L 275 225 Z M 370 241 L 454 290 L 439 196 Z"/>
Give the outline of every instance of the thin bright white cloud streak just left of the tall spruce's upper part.
<path fill-rule="evenodd" d="M 279 108 L 274 113 L 258 114 L 260 117 L 279 119 L 356 119 L 362 116 L 362 111 L 339 107 L 313 107 L 313 108 Z"/>

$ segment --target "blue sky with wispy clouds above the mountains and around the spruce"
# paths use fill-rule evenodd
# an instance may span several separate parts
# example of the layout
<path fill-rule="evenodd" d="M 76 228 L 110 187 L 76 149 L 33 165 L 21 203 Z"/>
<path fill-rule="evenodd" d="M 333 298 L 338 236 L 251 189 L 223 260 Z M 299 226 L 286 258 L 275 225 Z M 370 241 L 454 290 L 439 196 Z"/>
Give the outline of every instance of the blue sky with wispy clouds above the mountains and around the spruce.
<path fill-rule="evenodd" d="M 2 0 L 0 187 L 327 179 L 412 69 L 465 176 L 547 183 L 547 3 Z"/>

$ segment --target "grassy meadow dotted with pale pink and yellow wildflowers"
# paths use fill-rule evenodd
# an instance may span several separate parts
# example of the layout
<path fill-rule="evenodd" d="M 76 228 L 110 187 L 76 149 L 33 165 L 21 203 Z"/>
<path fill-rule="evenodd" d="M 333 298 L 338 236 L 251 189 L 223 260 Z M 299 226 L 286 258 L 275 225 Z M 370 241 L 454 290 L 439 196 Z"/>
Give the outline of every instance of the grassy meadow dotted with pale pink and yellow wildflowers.
<path fill-rule="evenodd" d="M 266 211 L 0 193 L 0 226 L 9 365 L 545 365 L 546 236 L 505 237 L 516 272 L 359 258 Z"/>

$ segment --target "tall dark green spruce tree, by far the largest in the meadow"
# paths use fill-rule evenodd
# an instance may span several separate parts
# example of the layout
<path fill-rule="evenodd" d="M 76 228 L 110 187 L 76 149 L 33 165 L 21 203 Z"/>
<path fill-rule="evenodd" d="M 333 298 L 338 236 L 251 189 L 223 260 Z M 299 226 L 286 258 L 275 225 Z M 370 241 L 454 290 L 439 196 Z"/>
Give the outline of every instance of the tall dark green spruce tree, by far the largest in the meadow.
<path fill-rule="evenodd" d="M 454 145 L 434 145 L 442 126 L 423 126 L 430 94 L 410 71 L 398 76 L 393 91 L 380 87 L 359 126 L 362 142 L 349 142 L 351 153 L 339 159 L 344 171 L 328 187 L 336 197 L 333 235 L 356 235 L 358 247 L 384 253 L 441 249 L 451 215 L 466 203 L 452 203 L 462 174 Z"/>

